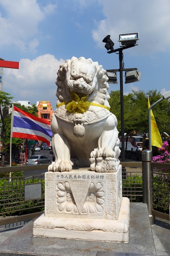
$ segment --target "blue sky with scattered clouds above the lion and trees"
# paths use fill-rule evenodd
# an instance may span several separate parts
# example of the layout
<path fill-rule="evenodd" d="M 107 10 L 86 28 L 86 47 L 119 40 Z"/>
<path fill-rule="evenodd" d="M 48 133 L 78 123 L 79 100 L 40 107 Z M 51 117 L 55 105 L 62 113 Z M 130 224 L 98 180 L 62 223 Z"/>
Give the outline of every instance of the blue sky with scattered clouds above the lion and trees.
<path fill-rule="evenodd" d="M 138 45 L 124 50 L 124 67 L 137 67 L 141 80 L 131 90 L 170 90 L 169 0 L 0 0 L 0 58 L 19 61 L 4 68 L 3 91 L 13 101 L 50 101 L 55 110 L 57 70 L 72 56 L 118 69 L 119 56 L 108 54 L 108 34 L 119 48 L 118 34 L 139 32 Z M 117 75 L 119 81 L 119 73 Z M 111 85 L 109 90 L 119 90 Z"/>

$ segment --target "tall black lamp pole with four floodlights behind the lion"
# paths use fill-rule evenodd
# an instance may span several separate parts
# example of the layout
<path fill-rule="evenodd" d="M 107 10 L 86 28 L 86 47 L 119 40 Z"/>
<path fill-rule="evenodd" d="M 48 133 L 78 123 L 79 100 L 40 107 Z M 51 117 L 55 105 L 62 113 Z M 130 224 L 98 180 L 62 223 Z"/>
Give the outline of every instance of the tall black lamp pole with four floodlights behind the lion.
<path fill-rule="evenodd" d="M 121 43 L 121 47 L 118 49 L 113 49 L 114 43 L 110 39 L 110 35 L 106 36 L 102 42 L 106 43 L 105 48 L 108 51 L 107 53 L 119 52 L 119 69 L 118 70 L 106 70 L 108 75 L 108 83 L 114 83 L 113 75 L 110 76 L 110 72 L 114 73 L 119 71 L 120 74 L 120 112 L 121 112 L 121 159 L 122 162 L 125 161 L 125 147 L 124 147 L 124 94 L 123 94 L 123 71 L 126 71 L 126 83 L 132 83 L 134 80 L 139 81 L 141 77 L 141 73 L 137 68 L 123 68 L 123 50 L 134 47 L 139 40 L 139 33 L 130 33 L 130 34 L 119 34 L 118 41 Z M 129 74 L 128 72 L 134 71 L 133 74 Z M 129 80 L 128 80 L 129 75 Z"/>

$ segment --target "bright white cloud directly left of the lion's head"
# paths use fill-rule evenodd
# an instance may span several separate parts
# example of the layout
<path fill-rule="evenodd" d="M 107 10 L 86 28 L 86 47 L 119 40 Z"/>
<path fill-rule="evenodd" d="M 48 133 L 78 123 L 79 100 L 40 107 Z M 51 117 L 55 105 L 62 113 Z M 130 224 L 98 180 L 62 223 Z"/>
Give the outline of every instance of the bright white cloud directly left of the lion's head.
<path fill-rule="evenodd" d="M 33 59 L 21 59 L 19 70 L 4 69 L 4 92 L 8 92 L 16 100 L 50 101 L 55 110 L 57 97 L 57 70 L 63 59 L 58 61 L 53 55 L 45 54 Z M 12 81 L 12 83 L 11 83 Z"/>

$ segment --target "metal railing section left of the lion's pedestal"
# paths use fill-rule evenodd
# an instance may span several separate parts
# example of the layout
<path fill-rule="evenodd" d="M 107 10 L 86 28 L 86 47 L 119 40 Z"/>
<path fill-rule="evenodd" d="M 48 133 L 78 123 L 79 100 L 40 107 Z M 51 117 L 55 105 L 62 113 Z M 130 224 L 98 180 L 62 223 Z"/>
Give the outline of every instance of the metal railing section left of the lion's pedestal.
<path fill-rule="evenodd" d="M 47 170 L 48 166 L 41 164 L 0 168 L 0 225 L 13 223 L 13 220 L 32 219 L 44 210 L 44 174 L 30 177 L 23 176 L 22 171 Z M 5 177 L 1 177 L 2 173 Z"/>

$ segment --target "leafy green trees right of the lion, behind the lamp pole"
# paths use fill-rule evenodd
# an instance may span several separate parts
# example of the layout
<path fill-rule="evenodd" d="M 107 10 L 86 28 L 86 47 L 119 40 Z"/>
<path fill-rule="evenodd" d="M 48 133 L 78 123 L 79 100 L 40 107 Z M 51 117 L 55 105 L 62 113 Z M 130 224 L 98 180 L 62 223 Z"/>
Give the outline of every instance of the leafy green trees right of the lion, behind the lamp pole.
<path fill-rule="evenodd" d="M 150 105 L 161 99 L 162 95 L 157 90 L 132 91 L 124 95 L 124 131 L 128 134 L 137 131 L 143 135 L 148 132 L 148 96 Z M 110 93 L 110 111 L 113 112 L 118 120 L 118 130 L 121 131 L 121 112 L 120 112 L 120 91 Z M 159 132 L 170 133 L 170 100 L 163 100 L 152 108 Z"/>

